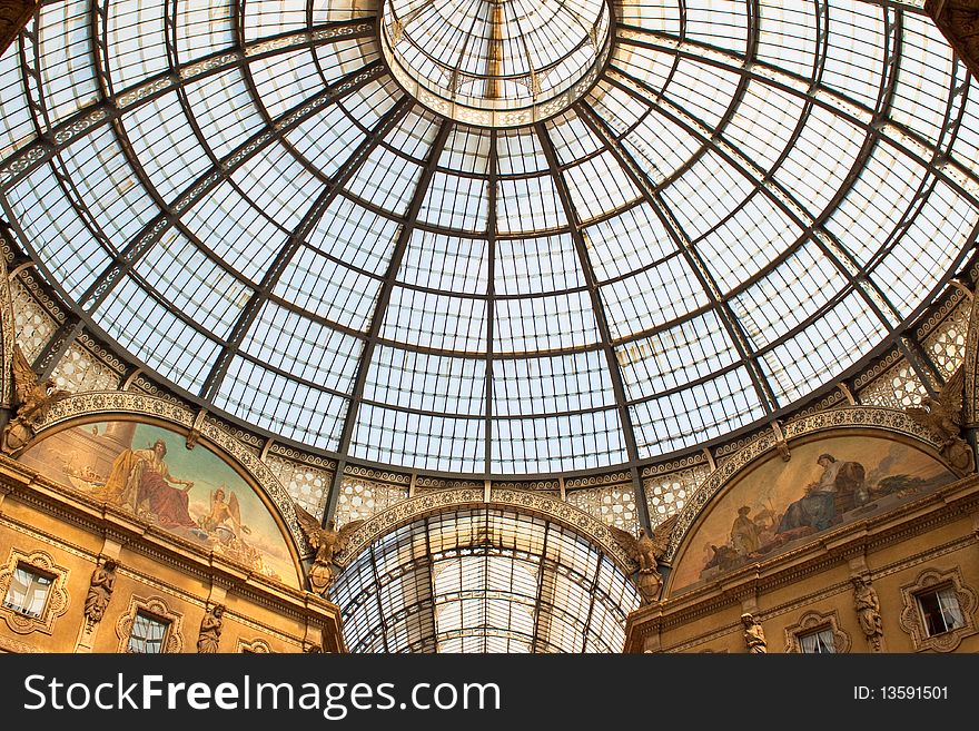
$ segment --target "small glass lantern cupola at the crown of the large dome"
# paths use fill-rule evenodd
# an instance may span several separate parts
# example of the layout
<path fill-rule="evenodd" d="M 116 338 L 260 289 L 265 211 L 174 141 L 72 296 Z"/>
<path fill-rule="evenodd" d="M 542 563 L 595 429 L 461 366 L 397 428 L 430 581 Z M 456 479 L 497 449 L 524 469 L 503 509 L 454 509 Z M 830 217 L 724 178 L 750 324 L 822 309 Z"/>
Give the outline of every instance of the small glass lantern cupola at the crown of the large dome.
<path fill-rule="evenodd" d="M 433 111 L 491 127 L 568 107 L 611 47 L 606 0 L 385 0 L 380 47 Z"/>

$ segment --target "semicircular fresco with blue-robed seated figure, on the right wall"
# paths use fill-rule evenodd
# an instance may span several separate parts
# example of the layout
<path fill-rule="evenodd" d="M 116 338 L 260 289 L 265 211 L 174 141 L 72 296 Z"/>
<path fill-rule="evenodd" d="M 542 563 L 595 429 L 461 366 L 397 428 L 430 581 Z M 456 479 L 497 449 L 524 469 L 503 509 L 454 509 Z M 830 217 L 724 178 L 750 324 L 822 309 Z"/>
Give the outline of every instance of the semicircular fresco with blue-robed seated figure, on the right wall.
<path fill-rule="evenodd" d="M 956 480 L 922 450 L 887 437 L 827 436 L 773 454 L 714 497 L 673 569 L 673 590 L 801 545 Z"/>

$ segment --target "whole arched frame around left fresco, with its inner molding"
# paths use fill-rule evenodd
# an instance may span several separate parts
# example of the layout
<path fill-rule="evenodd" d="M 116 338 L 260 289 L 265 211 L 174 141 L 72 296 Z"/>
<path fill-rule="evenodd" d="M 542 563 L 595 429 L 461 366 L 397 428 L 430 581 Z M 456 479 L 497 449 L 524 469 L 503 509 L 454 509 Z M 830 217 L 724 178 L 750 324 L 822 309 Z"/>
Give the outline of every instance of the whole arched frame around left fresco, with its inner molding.
<path fill-rule="evenodd" d="M 20 458 L 44 439 L 79 426 L 106 422 L 134 422 L 165 429 L 177 437 L 191 434 L 195 450 L 205 450 L 227 465 L 255 493 L 268 512 L 288 551 L 294 574 L 289 584 L 305 585 L 301 556 L 308 553 L 295 507 L 285 487 L 269 467 L 234 434 L 199 414 L 169 401 L 132 392 L 77 394 L 55 403 L 36 423 L 36 436 L 13 456 Z M 199 435 L 198 435 L 199 434 Z"/>

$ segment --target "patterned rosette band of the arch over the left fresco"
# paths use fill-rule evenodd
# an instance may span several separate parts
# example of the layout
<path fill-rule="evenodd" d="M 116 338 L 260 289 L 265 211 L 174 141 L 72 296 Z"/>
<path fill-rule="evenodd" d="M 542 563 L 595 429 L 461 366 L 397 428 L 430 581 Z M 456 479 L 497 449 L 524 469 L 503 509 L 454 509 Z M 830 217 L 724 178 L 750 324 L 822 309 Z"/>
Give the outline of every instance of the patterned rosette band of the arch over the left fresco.
<path fill-rule="evenodd" d="M 90 392 L 76 394 L 51 405 L 37 422 L 37 436 L 40 438 L 49 432 L 60 431 L 73 419 L 91 418 L 97 415 L 157 419 L 179 427 L 185 434 L 190 433 L 197 418 L 197 412 L 156 396 L 136 392 Z M 200 435 L 231 456 L 253 477 L 278 508 L 296 545 L 305 545 L 291 498 L 268 465 L 259 460 L 248 445 L 243 444 L 211 419 L 205 419 L 200 424 Z"/>

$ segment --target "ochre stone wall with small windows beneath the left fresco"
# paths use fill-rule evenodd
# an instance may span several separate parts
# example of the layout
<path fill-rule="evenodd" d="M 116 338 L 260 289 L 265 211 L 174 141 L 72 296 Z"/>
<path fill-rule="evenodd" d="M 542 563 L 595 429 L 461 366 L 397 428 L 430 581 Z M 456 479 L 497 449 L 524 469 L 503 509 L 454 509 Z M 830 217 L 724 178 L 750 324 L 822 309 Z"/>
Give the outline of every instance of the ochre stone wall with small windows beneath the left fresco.
<path fill-rule="evenodd" d="M 308 592 L 249 574 L 148 525 L 127 523 L 4 457 L 0 496 L 0 593 L 6 596 L 9 584 L 4 566 L 38 555 L 59 586 L 49 594 L 55 612 L 46 626 L 26 628 L 0 610 L 0 651 L 125 651 L 127 619 L 150 606 L 172 620 L 171 633 L 179 636 L 170 649 L 192 653 L 200 622 L 215 603 L 226 607 L 220 652 L 304 652 L 310 644 L 343 651 L 339 610 Z M 106 614 L 92 625 L 83 615 L 85 597 L 106 555 L 120 565 Z"/>

